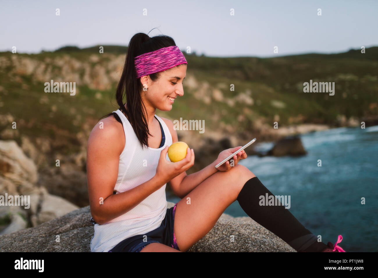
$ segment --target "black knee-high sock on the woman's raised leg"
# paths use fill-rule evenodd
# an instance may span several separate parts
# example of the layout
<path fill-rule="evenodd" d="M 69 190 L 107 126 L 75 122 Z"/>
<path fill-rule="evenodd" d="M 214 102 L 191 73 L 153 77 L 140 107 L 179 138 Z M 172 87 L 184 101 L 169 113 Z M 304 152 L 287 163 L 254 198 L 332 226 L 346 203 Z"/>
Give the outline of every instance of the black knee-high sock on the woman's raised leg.
<path fill-rule="evenodd" d="M 257 177 L 249 179 L 240 191 L 237 201 L 254 221 L 282 238 L 299 252 L 321 252 L 327 245 L 307 230 L 284 205 L 260 205 L 260 196 L 273 195 Z M 274 196 L 274 195 L 273 195 Z M 276 197 L 274 197 L 276 199 Z"/>

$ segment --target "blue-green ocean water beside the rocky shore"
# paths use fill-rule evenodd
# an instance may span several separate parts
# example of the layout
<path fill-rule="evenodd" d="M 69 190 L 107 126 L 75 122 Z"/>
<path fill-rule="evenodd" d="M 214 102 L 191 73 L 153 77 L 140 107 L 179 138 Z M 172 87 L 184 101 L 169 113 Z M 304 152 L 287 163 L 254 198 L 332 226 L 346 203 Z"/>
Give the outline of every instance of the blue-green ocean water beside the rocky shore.
<path fill-rule="evenodd" d="M 290 195 L 289 211 L 326 244 L 335 244 L 342 235 L 339 245 L 347 252 L 377 252 L 378 126 L 334 128 L 304 134 L 301 139 L 308 151 L 305 156 L 249 156 L 239 163 L 274 195 Z M 256 148 L 272 146 L 262 143 Z M 225 213 L 248 216 L 237 201 Z"/>

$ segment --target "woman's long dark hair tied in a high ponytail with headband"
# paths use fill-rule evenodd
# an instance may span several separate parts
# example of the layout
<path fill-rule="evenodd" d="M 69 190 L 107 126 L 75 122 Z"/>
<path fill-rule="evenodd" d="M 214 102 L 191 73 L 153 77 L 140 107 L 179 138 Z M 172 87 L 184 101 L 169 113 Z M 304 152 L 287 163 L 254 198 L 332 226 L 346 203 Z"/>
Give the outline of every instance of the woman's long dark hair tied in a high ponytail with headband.
<path fill-rule="evenodd" d="M 140 97 L 143 85 L 140 78 L 136 79 L 134 58 L 144 53 L 174 45 L 176 45 L 175 41 L 169 36 L 158 35 L 150 38 L 147 34 L 137 33 L 131 38 L 127 49 L 125 64 L 116 90 L 116 100 L 122 113 L 129 119 L 142 147 L 148 147 L 148 136 L 152 134 L 149 133 L 148 121 L 143 113 L 143 110 L 147 112 Z M 159 77 L 160 72 L 150 74 L 152 81 L 156 81 Z M 125 94 L 126 108 L 123 102 Z M 112 113 L 109 113 L 100 119 L 111 115 Z"/>

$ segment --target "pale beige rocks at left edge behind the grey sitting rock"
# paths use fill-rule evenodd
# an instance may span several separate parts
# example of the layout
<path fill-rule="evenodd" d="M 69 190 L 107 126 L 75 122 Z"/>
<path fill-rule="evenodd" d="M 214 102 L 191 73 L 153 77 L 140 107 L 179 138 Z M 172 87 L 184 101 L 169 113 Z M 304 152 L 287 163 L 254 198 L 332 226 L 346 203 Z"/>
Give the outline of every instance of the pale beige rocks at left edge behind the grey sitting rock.
<path fill-rule="evenodd" d="M 78 208 L 37 187 L 37 179 L 36 165 L 17 143 L 0 140 L 0 235 L 35 227 Z M 23 205 L 15 205 L 21 196 Z"/>

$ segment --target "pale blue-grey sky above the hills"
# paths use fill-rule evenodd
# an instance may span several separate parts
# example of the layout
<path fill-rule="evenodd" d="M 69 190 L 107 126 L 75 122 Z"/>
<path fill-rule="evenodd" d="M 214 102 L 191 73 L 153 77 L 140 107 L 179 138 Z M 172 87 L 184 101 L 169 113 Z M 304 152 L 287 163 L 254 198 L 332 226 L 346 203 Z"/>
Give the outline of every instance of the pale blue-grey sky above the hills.
<path fill-rule="evenodd" d="M 378 46 L 378 1 L 1 0 L 0 51 L 127 45 L 137 32 L 171 36 L 211 57 L 339 53 Z M 56 8 L 60 15 L 56 15 Z M 317 15 L 321 8 L 322 15 Z M 143 15 L 147 9 L 147 15 Z M 235 15 L 230 15 L 234 9 Z M 278 46 L 278 54 L 273 54 Z"/>

